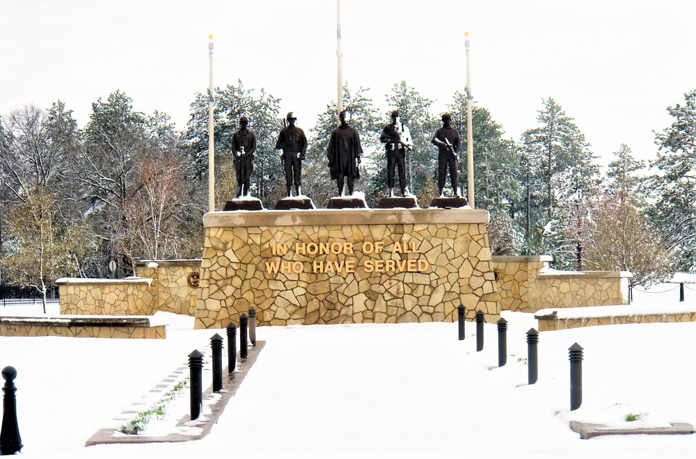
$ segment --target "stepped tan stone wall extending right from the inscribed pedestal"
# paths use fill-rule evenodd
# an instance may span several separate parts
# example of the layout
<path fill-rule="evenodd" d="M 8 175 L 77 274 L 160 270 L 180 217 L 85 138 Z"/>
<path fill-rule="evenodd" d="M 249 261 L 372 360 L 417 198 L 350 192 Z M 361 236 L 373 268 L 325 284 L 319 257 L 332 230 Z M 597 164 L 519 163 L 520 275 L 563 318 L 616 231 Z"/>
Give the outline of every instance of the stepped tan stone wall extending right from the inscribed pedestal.
<path fill-rule="evenodd" d="M 504 310 L 628 304 L 626 271 L 564 272 L 548 269 L 551 257 L 493 257 Z"/>

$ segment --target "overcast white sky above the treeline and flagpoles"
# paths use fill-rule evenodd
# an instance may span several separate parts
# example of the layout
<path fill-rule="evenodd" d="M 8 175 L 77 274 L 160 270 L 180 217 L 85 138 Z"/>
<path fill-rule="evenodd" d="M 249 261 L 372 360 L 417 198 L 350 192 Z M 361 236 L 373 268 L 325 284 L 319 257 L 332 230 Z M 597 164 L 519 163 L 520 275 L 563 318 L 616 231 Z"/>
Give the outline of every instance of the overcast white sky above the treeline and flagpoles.
<path fill-rule="evenodd" d="M 333 0 L 0 0 L 0 114 L 61 99 L 81 127 L 116 89 L 184 127 L 209 81 L 266 88 L 313 126 L 335 100 Z M 651 159 L 665 108 L 696 89 L 693 0 L 342 0 L 343 79 L 384 95 L 405 80 L 441 113 L 466 86 L 519 139 L 541 99 L 574 117 L 608 163 L 621 143 Z M 385 115 L 385 121 L 386 115 Z"/>

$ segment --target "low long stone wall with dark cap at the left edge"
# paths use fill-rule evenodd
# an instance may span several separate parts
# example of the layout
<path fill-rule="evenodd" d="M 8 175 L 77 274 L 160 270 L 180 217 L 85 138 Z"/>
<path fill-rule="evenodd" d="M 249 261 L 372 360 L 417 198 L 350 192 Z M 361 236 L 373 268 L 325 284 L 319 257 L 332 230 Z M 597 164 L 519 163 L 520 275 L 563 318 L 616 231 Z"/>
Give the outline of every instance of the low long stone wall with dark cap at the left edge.
<path fill-rule="evenodd" d="M 143 316 L 0 317 L 0 336 L 166 338 L 166 326 Z"/>

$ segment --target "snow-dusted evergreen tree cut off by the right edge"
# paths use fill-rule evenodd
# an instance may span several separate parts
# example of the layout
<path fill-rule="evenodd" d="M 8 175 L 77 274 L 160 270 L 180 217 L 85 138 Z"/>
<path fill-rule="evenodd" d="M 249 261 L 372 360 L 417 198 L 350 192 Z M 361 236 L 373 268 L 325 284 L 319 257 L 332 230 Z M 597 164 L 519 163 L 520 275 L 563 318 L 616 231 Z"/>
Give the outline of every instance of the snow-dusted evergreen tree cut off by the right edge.
<path fill-rule="evenodd" d="M 656 133 L 659 150 L 651 166 L 649 189 L 656 202 L 649 209 L 651 223 L 665 234 L 665 247 L 679 271 L 696 269 L 696 90 L 685 103 L 668 107 L 674 121 Z"/>

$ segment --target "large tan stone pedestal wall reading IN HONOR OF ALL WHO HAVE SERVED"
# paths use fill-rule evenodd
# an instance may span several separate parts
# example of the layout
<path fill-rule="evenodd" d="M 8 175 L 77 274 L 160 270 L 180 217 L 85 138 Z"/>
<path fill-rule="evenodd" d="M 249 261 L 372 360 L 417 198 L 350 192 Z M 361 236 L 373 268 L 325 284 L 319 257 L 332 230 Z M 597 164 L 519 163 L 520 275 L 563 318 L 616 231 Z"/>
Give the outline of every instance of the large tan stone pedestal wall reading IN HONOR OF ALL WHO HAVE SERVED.
<path fill-rule="evenodd" d="M 252 305 L 260 325 L 454 321 L 460 303 L 469 320 L 482 309 L 497 321 L 488 218 L 479 209 L 206 214 L 196 327 L 236 323 Z M 320 243 L 325 253 L 313 253 Z"/>

